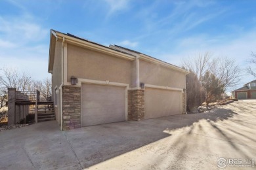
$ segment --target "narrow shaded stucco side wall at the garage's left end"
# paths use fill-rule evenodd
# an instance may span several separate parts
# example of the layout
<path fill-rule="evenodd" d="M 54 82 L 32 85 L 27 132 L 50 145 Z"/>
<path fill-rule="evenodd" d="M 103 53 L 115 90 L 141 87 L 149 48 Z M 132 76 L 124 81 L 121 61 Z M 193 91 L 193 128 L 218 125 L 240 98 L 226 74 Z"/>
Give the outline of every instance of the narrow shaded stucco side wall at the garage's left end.
<path fill-rule="evenodd" d="M 62 68 L 61 68 L 61 58 L 62 58 L 62 42 L 61 41 L 57 41 L 56 42 L 56 47 L 55 47 L 55 52 L 54 52 L 54 65 L 53 65 L 53 75 L 52 75 L 52 101 L 54 101 L 54 97 L 55 97 L 55 90 L 54 88 L 56 86 L 60 86 L 62 84 Z M 59 121 L 59 112 L 58 112 L 59 108 L 55 108 L 55 115 L 56 115 L 56 120 L 58 123 L 60 123 Z"/>

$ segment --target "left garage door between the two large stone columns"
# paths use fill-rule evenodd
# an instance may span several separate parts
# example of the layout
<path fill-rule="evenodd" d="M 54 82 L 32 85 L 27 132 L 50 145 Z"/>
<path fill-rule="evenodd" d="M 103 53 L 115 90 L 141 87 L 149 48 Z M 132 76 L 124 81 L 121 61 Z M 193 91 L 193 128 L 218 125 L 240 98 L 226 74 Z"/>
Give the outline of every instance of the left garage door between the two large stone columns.
<path fill-rule="evenodd" d="M 82 126 L 125 121 L 125 88 L 82 85 Z"/>

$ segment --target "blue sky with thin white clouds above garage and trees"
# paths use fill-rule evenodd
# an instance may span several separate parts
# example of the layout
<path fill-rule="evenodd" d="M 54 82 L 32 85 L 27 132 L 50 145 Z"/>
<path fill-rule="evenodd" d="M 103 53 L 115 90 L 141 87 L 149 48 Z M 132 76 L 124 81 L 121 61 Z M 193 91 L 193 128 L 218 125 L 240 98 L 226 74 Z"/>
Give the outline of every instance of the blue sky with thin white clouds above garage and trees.
<path fill-rule="evenodd" d="M 211 52 L 247 66 L 256 52 L 256 1 L 0 1 L 0 67 L 47 73 L 50 29 L 181 65 Z M 245 74 L 244 74 L 245 75 Z M 254 80 L 244 76 L 241 84 Z"/>

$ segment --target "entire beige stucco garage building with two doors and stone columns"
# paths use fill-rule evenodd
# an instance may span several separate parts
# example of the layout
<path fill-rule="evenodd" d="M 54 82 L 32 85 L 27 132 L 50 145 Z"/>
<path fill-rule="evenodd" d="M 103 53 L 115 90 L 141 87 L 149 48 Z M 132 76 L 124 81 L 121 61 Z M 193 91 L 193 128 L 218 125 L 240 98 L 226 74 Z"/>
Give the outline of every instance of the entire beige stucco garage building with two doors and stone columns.
<path fill-rule="evenodd" d="M 121 46 L 51 30 L 49 73 L 61 129 L 186 112 L 189 72 Z"/>

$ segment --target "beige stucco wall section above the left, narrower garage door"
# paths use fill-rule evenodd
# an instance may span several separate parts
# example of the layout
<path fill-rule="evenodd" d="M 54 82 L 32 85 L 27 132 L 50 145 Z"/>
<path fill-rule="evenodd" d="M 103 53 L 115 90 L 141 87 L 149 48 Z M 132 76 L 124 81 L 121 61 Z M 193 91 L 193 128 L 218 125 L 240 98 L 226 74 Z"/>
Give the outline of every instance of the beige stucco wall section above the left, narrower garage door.
<path fill-rule="evenodd" d="M 68 44 L 68 77 L 86 78 L 91 80 L 109 80 L 130 84 L 132 63 L 127 59 L 109 56 Z"/>

